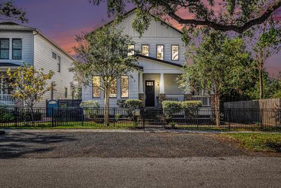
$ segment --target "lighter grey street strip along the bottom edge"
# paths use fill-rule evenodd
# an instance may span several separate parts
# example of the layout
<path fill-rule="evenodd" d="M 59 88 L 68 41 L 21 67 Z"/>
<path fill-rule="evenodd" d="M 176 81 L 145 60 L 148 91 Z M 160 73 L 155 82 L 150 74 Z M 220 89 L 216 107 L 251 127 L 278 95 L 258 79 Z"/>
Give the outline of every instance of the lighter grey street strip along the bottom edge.
<path fill-rule="evenodd" d="M 1 187 L 280 187 L 281 158 L 0 160 Z"/>

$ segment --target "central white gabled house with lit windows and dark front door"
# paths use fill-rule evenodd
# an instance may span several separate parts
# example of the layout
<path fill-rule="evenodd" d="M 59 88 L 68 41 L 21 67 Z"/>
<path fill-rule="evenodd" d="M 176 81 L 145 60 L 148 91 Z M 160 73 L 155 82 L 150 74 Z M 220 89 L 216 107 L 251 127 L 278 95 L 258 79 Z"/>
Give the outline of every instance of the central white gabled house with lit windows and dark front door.
<path fill-rule="evenodd" d="M 168 23 L 152 21 L 142 37 L 132 28 L 135 9 L 126 13 L 119 24 L 124 34 L 133 37 L 136 45 L 129 48 L 141 51 L 138 65 L 142 70 L 135 70 L 117 80 L 117 92 L 110 94 L 110 107 L 117 107 L 118 99 L 141 99 L 145 106 L 161 106 L 161 101 L 202 100 L 204 106 L 210 106 L 209 96 L 201 92 L 185 91 L 178 87 L 176 77 L 182 74 L 186 47 L 182 41 L 181 30 Z M 110 24 L 110 23 L 109 23 Z M 93 87 L 84 86 L 83 101 L 99 101 L 103 106 L 104 94 L 100 91 L 99 77 L 93 77 Z M 196 94 L 196 95 L 195 95 Z"/>

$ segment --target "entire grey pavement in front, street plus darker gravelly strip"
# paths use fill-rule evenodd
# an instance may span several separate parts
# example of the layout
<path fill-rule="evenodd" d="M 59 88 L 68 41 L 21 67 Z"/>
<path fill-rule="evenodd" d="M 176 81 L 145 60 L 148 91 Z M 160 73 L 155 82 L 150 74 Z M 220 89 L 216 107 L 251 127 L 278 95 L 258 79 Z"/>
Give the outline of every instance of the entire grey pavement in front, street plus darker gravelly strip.
<path fill-rule="evenodd" d="M 281 158 L 208 134 L 11 132 L 0 187 L 281 187 Z"/>

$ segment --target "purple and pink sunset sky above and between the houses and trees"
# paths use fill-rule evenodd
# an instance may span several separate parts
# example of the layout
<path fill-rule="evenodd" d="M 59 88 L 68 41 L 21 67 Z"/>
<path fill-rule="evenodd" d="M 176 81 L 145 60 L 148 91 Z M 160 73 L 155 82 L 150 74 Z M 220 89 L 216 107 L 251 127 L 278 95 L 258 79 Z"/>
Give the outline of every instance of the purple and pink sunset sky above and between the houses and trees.
<path fill-rule="evenodd" d="M 108 20 L 106 4 L 93 6 L 88 0 L 14 0 L 14 2 L 27 11 L 30 22 L 26 25 L 44 32 L 71 54 L 72 46 L 75 45 L 75 35 L 89 32 L 101 25 L 102 20 Z M 270 77 L 276 77 L 281 70 L 280 58 L 281 54 L 278 54 L 266 63 Z"/>

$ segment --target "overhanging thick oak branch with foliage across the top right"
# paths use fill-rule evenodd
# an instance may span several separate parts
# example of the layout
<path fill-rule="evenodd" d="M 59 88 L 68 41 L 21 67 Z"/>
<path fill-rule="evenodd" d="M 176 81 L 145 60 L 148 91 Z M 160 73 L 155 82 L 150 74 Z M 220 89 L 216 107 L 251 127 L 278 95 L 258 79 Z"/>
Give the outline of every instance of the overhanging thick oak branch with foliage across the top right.
<path fill-rule="evenodd" d="M 104 0 L 89 1 L 99 5 Z M 191 27 L 201 25 L 243 33 L 264 23 L 281 6 L 281 0 L 107 0 L 108 15 L 124 14 L 126 3 L 138 10 L 133 27 L 140 33 L 150 25 L 150 14 L 155 18 L 173 18 Z"/>

